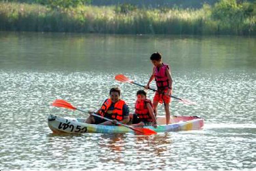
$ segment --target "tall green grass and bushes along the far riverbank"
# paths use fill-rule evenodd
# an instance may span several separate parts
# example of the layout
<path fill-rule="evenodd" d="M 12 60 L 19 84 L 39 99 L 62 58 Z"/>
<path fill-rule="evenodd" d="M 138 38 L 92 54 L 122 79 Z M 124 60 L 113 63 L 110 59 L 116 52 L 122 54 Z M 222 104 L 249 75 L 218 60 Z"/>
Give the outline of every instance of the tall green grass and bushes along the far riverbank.
<path fill-rule="evenodd" d="M 0 2 L 0 30 L 256 35 L 256 1 L 220 0 L 212 6 L 204 4 L 201 9 L 91 6 L 89 0 L 37 2 Z"/>

